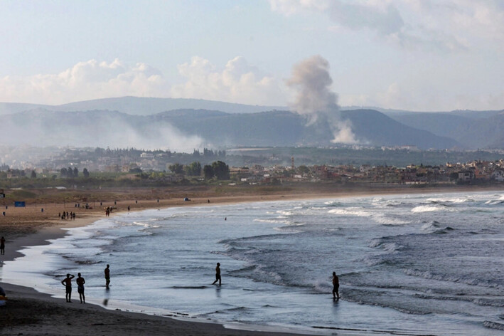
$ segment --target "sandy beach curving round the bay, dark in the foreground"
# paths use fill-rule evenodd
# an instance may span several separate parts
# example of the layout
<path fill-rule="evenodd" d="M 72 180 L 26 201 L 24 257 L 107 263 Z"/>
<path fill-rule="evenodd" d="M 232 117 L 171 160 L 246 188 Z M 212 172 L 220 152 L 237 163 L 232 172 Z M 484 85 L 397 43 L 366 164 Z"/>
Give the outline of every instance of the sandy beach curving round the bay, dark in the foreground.
<path fill-rule="evenodd" d="M 498 188 L 495 188 L 498 189 Z M 502 189 L 498 189 L 502 190 Z M 85 209 L 82 202 L 77 203 L 35 203 L 25 208 L 9 206 L 6 216 L 0 217 L 0 236 L 6 238 L 6 253 L 0 261 L 12 261 L 21 256 L 17 251 L 23 246 L 36 246 L 47 243 L 48 239 L 65 235 L 63 228 L 85 226 L 104 216 L 104 207 L 114 206 L 112 216 L 121 212 L 142 209 L 161 209 L 169 206 L 215 205 L 251 201 L 274 201 L 291 199 L 313 199 L 344 196 L 367 196 L 390 193 L 429 193 L 461 191 L 461 189 L 390 189 L 372 191 L 342 191 L 338 193 L 285 193 L 257 195 L 229 195 L 173 199 L 119 199 L 117 201 L 89 202 L 92 209 Z M 210 202 L 209 202 L 210 201 Z M 43 209 L 43 211 L 42 211 Z M 76 219 L 62 220 L 58 214 L 75 211 Z M 0 283 L 6 290 L 8 304 L 0 307 L 1 335 L 269 335 L 272 331 L 252 332 L 247 330 L 225 329 L 222 325 L 200 322 L 187 322 L 168 317 L 144 315 L 125 311 L 107 310 L 98 305 L 80 305 L 63 299 L 51 298 L 32 288 L 8 283 Z M 76 293 L 75 293 L 76 295 Z M 338 335 L 345 330 L 338 330 Z M 315 332 L 314 332 L 315 333 Z M 277 335 L 287 335 L 278 333 Z M 352 332 L 352 335 L 356 335 Z"/>

